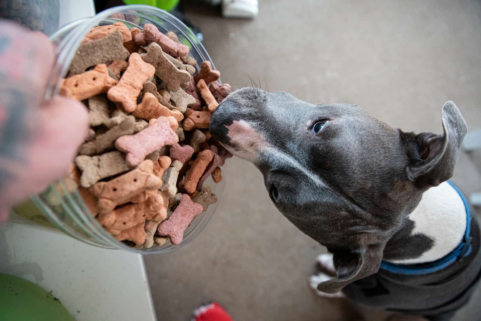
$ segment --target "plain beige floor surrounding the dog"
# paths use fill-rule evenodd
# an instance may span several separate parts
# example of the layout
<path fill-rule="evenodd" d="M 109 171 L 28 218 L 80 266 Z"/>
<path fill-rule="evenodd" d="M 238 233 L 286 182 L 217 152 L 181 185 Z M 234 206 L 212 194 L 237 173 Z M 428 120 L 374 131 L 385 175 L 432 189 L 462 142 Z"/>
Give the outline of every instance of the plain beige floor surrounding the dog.
<path fill-rule="evenodd" d="M 310 102 L 358 103 L 404 130 L 441 132 L 454 100 L 481 127 L 481 2 L 260 0 L 254 20 L 192 7 L 204 45 L 234 88 L 248 75 Z M 456 3 L 455 3 L 456 2 Z M 263 85 L 264 86 L 264 85 Z M 480 169 L 463 153 L 453 181 L 481 191 Z M 236 321 L 381 320 L 382 312 L 316 297 L 307 287 L 325 251 L 271 204 L 262 176 L 229 160 L 212 221 L 188 246 L 145 258 L 159 320 L 189 320 L 215 299 Z M 481 291 L 456 320 L 479 320 Z"/>

